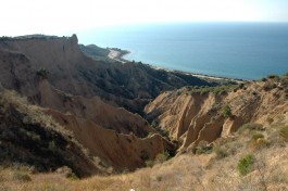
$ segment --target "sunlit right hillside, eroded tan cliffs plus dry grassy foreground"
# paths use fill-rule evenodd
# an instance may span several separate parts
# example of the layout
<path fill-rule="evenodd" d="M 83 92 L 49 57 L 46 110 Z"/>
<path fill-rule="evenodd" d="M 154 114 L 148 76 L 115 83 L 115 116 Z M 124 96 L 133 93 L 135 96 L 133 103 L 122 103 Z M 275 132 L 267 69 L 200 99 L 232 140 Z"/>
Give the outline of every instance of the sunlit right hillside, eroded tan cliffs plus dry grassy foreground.
<path fill-rule="evenodd" d="M 43 190 L 49 186 L 59 191 L 287 190 L 287 82 L 288 76 L 271 76 L 240 86 L 217 89 L 188 87 L 164 92 L 146 111 L 163 129 L 168 130 L 172 139 L 184 139 L 177 156 L 166 161 L 166 156 L 158 155 L 154 161 L 147 163 L 147 168 L 83 180 L 71 180 L 58 173 L 28 174 L 26 170 L 32 181 L 25 182 L 11 176 L 18 169 L 4 168 L 0 188 Z M 211 106 L 215 98 L 217 106 Z M 193 112 L 188 110 L 192 107 L 187 109 L 180 103 L 199 103 L 197 107 L 192 106 L 198 110 L 196 113 L 199 116 L 193 116 Z M 230 110 L 222 105 L 229 105 Z M 212 112 L 205 113 L 211 109 Z M 201 117 L 203 115 L 211 118 Z M 215 117 L 218 123 L 213 120 Z M 186 132 L 179 133 L 180 125 L 185 126 L 187 120 L 200 122 L 198 118 L 205 120 L 201 120 L 202 129 L 192 131 L 196 135 L 191 132 L 192 125 Z M 176 124 L 174 128 L 172 122 Z M 222 124 L 221 128 L 218 124 Z M 208 129 L 209 133 L 204 133 Z"/>

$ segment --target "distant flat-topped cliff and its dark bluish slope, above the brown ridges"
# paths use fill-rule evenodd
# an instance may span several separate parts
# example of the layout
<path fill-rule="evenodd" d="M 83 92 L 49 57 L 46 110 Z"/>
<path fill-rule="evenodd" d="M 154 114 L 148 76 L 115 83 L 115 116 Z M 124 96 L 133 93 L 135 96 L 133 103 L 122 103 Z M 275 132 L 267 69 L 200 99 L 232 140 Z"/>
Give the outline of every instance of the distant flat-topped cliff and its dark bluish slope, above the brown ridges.
<path fill-rule="evenodd" d="M 156 71 L 140 63 L 95 61 L 80 52 L 77 37 L 0 39 L 0 81 L 37 102 L 39 77 L 67 93 L 95 97 L 141 112 L 162 90 L 208 85 L 199 78 Z M 37 75 L 37 71 L 45 74 Z"/>

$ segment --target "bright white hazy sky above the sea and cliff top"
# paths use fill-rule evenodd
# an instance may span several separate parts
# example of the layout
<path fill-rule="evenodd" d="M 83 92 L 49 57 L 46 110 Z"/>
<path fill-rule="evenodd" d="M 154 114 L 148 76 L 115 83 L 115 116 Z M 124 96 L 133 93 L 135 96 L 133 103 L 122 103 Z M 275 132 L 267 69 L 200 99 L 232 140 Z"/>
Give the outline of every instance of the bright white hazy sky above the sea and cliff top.
<path fill-rule="evenodd" d="M 288 22 L 288 0 L 3 0 L 0 36 L 189 21 Z"/>

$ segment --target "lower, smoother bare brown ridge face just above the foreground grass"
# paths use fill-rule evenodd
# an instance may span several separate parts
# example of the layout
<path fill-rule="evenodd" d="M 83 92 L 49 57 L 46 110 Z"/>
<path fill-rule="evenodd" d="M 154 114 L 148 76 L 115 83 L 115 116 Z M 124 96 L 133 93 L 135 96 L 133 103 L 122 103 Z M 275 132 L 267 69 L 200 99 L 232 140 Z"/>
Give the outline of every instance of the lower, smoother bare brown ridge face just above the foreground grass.
<path fill-rule="evenodd" d="M 48 111 L 48 114 L 72 130 L 93 156 L 112 164 L 116 169 L 133 170 L 142 167 L 146 161 L 153 160 L 171 147 L 171 143 L 159 135 L 140 139 L 133 133 L 123 135 L 104 129 L 92 120 L 74 115 L 55 111 Z"/>

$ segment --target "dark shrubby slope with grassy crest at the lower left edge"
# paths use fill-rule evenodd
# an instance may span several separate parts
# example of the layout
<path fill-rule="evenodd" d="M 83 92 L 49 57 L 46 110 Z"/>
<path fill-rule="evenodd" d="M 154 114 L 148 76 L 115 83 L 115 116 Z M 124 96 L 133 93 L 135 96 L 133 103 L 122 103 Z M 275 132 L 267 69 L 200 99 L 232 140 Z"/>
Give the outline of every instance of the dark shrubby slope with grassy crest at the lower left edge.
<path fill-rule="evenodd" d="M 0 91 L 0 164 L 26 164 L 37 171 L 68 166 L 77 176 L 105 174 L 71 131 L 15 92 Z"/>

